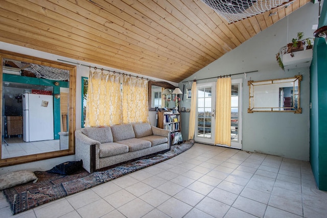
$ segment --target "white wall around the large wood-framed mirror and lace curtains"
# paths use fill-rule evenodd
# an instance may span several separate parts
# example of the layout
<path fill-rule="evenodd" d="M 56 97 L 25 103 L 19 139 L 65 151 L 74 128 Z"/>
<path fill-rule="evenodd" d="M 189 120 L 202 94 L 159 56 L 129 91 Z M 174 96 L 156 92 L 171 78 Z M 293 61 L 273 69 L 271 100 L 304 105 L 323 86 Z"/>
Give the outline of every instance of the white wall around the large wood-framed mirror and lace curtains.
<path fill-rule="evenodd" d="M 0 49 L 1 50 L 6 50 L 10 52 L 15 52 L 15 53 L 20 53 L 24 55 L 30 55 L 38 58 L 43 58 L 43 59 L 48 59 L 52 61 L 58 61 L 59 60 L 65 60 L 65 61 L 70 61 L 73 63 L 80 63 L 80 64 L 85 64 L 87 66 L 97 66 L 98 68 L 104 68 L 104 69 L 110 69 L 110 70 L 115 70 L 116 72 L 124 72 L 125 74 L 131 74 L 134 76 L 137 76 L 137 74 L 133 74 L 132 72 L 127 72 L 119 69 L 114 69 L 111 67 L 107 66 L 101 66 L 101 65 L 96 65 L 92 63 L 87 63 L 83 61 L 78 61 L 74 59 L 69 59 L 66 57 L 58 56 L 58 55 L 53 55 L 50 53 L 45 53 L 45 52 L 40 52 L 37 50 L 33 49 L 28 49 L 26 47 L 18 46 L 18 45 L 13 45 L 5 42 L 0 41 Z M 81 96 L 81 88 L 82 88 L 82 77 L 88 77 L 88 72 L 89 72 L 89 67 L 83 66 L 83 65 L 77 65 L 77 78 L 76 78 L 76 129 L 81 128 L 81 104 L 82 104 L 82 96 Z M 138 75 L 139 77 L 145 77 L 144 75 Z M 154 81 L 165 81 L 165 80 L 160 80 L 157 78 L 153 77 L 145 77 L 149 78 Z M 177 86 L 177 83 L 173 83 L 170 81 L 165 81 L 173 84 L 174 86 Z M 148 104 L 145 102 L 145 104 Z M 150 111 L 149 113 L 149 119 L 151 124 L 155 124 L 155 119 L 156 119 L 156 114 L 153 111 Z M 13 172 L 13 171 L 18 171 L 21 169 L 30 169 L 32 171 L 46 171 L 48 169 L 51 169 L 57 164 L 63 163 L 65 161 L 75 161 L 75 155 L 70 155 L 70 156 L 65 156 L 65 157 L 59 157 L 59 158 L 53 158 L 53 159 L 48 159 L 48 160 L 41 160 L 41 161 L 36 161 L 36 162 L 31 162 L 31 163 L 26 163 L 26 164 L 19 164 L 19 165 L 14 165 L 14 166 L 8 166 L 8 167 L 2 167 L 0 168 L 0 175 L 8 173 L 8 172 Z"/>

